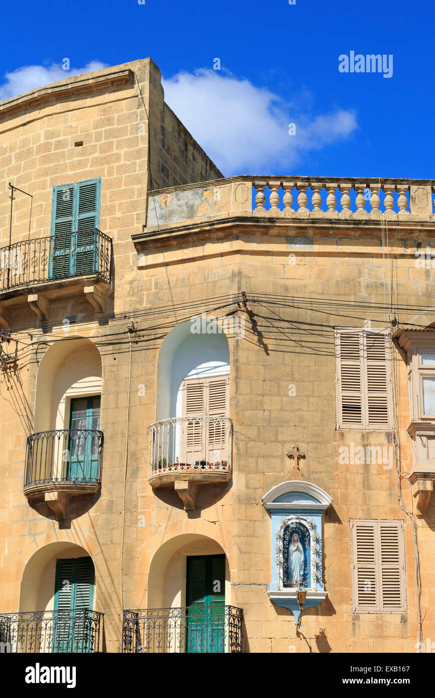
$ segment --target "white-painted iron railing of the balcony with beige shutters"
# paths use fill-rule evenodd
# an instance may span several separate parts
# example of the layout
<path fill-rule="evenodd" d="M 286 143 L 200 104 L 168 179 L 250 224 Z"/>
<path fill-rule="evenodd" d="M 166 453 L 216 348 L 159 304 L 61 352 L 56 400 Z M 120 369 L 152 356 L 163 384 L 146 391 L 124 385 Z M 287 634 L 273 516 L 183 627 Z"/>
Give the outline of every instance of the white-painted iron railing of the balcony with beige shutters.
<path fill-rule="evenodd" d="M 173 472 L 231 472 L 229 417 L 172 417 L 149 428 L 149 477 Z"/>

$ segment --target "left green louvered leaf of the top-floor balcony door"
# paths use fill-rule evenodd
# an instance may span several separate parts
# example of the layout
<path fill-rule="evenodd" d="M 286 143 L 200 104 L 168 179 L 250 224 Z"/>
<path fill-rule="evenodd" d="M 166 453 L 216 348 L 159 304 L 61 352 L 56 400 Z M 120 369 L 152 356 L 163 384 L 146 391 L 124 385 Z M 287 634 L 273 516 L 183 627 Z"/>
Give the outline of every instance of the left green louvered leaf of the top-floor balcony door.
<path fill-rule="evenodd" d="M 68 279 L 71 276 L 74 204 L 73 184 L 53 188 L 50 279 Z"/>

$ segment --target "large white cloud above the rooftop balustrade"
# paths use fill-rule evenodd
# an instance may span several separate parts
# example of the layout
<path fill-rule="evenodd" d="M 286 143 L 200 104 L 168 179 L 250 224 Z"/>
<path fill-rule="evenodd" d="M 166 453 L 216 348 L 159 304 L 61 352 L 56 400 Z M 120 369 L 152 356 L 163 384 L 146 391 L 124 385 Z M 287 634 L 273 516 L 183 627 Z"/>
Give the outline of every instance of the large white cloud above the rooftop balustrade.
<path fill-rule="evenodd" d="M 304 112 L 268 89 L 230 73 L 201 68 L 163 80 L 165 101 L 223 174 L 289 172 L 309 150 L 345 140 L 357 128 L 355 113 Z M 289 135 L 294 123 L 296 135 Z"/>

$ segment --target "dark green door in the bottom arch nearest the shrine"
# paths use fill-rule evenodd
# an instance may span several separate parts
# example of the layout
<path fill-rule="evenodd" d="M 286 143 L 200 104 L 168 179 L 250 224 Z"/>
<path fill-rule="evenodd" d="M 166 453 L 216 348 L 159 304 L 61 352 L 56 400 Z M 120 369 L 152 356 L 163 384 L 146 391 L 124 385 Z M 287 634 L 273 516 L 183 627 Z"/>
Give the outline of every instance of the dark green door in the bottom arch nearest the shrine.
<path fill-rule="evenodd" d="M 186 652 L 225 651 L 225 555 L 189 556 Z"/>

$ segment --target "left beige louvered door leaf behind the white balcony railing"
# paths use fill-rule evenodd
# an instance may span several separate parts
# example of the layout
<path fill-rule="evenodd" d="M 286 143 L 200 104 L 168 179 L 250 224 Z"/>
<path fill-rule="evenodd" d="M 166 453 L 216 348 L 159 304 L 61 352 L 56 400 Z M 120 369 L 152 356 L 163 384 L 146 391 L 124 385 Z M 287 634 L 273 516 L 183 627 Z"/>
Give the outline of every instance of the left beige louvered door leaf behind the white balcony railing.
<path fill-rule="evenodd" d="M 183 417 L 192 417 L 184 420 L 182 424 L 181 462 L 195 463 L 205 459 L 204 424 L 202 417 L 205 415 L 206 406 L 206 380 L 184 380 L 183 391 Z"/>

